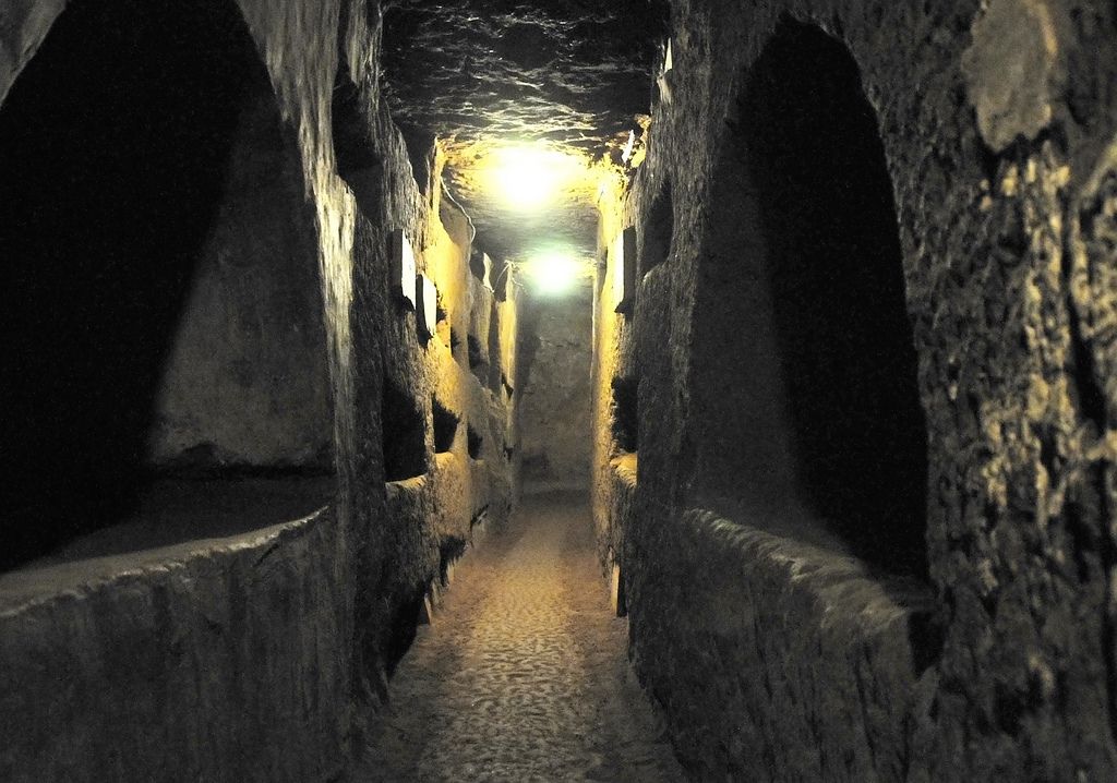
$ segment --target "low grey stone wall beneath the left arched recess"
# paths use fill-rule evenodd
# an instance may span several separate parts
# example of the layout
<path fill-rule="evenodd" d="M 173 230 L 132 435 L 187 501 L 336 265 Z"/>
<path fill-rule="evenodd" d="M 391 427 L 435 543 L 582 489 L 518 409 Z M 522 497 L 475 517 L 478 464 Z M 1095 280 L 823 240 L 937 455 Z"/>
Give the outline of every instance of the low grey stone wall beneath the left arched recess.
<path fill-rule="evenodd" d="M 345 547 L 325 508 L 0 576 L 0 780 L 338 775 Z"/>

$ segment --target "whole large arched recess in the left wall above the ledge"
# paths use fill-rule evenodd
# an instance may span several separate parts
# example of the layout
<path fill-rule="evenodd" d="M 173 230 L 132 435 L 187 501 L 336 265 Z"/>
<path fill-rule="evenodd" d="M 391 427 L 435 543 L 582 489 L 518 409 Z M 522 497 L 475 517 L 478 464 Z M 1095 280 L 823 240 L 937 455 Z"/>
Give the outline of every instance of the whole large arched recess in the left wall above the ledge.
<path fill-rule="evenodd" d="M 0 172 L 0 567 L 135 521 L 153 474 L 332 471 L 313 214 L 235 2 L 68 6 Z"/>

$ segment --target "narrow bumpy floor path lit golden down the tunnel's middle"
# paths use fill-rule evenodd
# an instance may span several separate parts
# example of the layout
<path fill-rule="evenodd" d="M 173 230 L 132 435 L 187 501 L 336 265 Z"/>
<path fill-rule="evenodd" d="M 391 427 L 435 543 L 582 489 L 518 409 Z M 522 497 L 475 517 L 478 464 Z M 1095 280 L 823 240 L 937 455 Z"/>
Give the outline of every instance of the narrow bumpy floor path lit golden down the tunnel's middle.
<path fill-rule="evenodd" d="M 584 495 L 528 495 L 459 561 L 354 780 L 681 781 L 610 609 Z"/>

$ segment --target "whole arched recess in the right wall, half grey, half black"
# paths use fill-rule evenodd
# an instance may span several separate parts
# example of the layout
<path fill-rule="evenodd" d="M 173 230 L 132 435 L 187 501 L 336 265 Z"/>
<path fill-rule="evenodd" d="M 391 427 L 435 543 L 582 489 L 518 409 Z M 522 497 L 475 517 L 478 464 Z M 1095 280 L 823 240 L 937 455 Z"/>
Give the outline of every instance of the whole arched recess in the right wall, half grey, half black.
<path fill-rule="evenodd" d="M 757 524 L 924 573 L 926 424 L 892 188 L 857 64 L 784 21 L 737 108 L 696 315 L 698 486 L 743 500 Z"/>

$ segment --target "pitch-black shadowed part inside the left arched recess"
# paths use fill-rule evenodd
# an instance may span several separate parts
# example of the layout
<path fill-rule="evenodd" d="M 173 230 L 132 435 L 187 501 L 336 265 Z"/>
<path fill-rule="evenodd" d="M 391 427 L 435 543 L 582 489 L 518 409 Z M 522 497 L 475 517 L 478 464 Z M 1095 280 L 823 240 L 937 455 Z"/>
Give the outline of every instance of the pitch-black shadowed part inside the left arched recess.
<path fill-rule="evenodd" d="M 0 106 L 0 567 L 134 506 L 258 59 L 232 2 L 75 2 Z"/>

